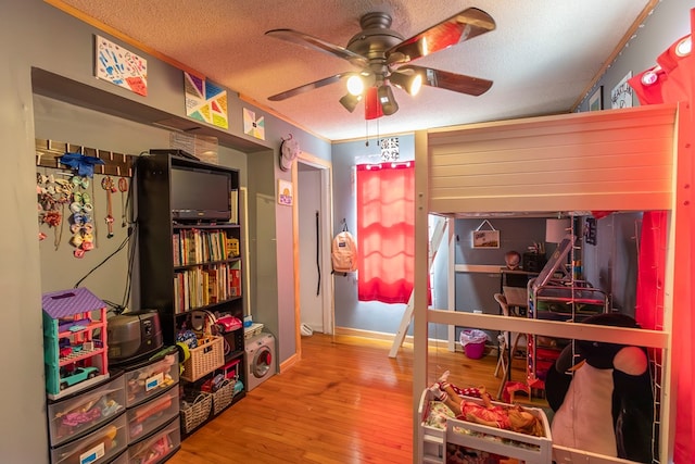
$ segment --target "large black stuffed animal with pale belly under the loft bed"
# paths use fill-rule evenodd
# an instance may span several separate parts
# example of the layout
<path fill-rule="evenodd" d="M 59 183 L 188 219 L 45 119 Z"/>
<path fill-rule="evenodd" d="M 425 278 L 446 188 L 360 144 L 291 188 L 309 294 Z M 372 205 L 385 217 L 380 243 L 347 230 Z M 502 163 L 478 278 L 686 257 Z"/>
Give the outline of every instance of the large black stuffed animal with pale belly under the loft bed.
<path fill-rule="evenodd" d="M 623 314 L 583 323 L 640 328 Z M 548 371 L 545 389 L 554 444 L 652 462 L 654 394 L 644 348 L 574 340 Z"/>

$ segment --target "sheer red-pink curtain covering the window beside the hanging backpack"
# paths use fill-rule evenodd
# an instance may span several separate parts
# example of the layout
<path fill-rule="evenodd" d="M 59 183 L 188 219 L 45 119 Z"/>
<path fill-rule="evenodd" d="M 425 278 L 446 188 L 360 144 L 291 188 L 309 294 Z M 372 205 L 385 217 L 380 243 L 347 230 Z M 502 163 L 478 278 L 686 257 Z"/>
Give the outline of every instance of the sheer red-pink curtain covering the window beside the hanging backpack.
<path fill-rule="evenodd" d="M 415 163 L 357 165 L 357 298 L 407 303 L 415 265 Z"/>

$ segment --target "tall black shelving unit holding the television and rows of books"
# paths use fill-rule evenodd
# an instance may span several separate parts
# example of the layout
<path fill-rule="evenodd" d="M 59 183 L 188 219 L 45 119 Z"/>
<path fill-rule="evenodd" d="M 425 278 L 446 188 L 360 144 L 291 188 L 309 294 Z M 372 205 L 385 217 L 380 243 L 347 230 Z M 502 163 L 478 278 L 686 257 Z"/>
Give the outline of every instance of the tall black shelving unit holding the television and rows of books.
<path fill-rule="evenodd" d="M 173 179 L 173 170 L 229 175 L 231 191 L 227 195 L 231 195 L 232 198 L 232 192 L 239 191 L 239 172 L 181 158 L 174 150 L 152 150 L 152 153 L 140 156 L 136 171 L 140 305 L 142 309 L 159 312 L 164 343 L 173 346 L 176 344 L 177 334 L 182 327 L 191 328 L 190 319 L 194 311 L 206 310 L 243 319 L 243 243 L 241 226 L 235 221 L 239 217 L 238 202 L 231 201 L 231 221 L 191 217 L 181 220 L 173 212 L 174 198 L 180 198 L 181 193 L 174 191 L 177 185 Z M 191 186 L 178 187 L 189 191 Z M 188 291 L 184 291 L 186 288 L 181 284 L 182 280 L 189 283 Z M 220 287 L 211 284 L 212 280 L 217 284 L 222 281 L 222 290 L 215 290 Z M 193 281 L 198 289 L 195 291 L 191 288 Z M 226 341 L 225 364 L 239 360 L 239 378 L 245 385 L 243 327 L 223 336 Z M 212 372 L 198 379 L 193 387 L 218 372 Z M 181 384 L 186 387 L 184 380 Z M 243 392 L 235 396 L 231 404 L 243 396 Z"/>

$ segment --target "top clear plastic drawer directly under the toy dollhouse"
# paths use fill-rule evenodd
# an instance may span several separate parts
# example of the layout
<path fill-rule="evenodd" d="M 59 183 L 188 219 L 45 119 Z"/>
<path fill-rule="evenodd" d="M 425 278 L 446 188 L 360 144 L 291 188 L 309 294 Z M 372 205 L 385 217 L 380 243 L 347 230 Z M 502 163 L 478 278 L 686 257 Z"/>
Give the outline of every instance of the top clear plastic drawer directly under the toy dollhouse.
<path fill-rule="evenodd" d="M 113 419 L 125 411 L 126 393 L 124 376 L 112 375 L 111 379 L 91 390 L 74 397 L 48 403 L 48 428 L 51 446 L 58 447 L 101 424 Z"/>

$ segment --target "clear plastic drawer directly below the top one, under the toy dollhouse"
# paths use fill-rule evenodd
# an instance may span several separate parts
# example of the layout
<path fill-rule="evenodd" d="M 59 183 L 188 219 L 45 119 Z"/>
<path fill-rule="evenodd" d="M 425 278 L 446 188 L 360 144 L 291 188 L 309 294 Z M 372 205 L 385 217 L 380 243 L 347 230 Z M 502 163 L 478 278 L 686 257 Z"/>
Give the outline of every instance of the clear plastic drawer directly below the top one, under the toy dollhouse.
<path fill-rule="evenodd" d="M 126 449 L 126 415 L 121 414 L 85 437 L 51 450 L 52 464 L 106 463 Z"/>

